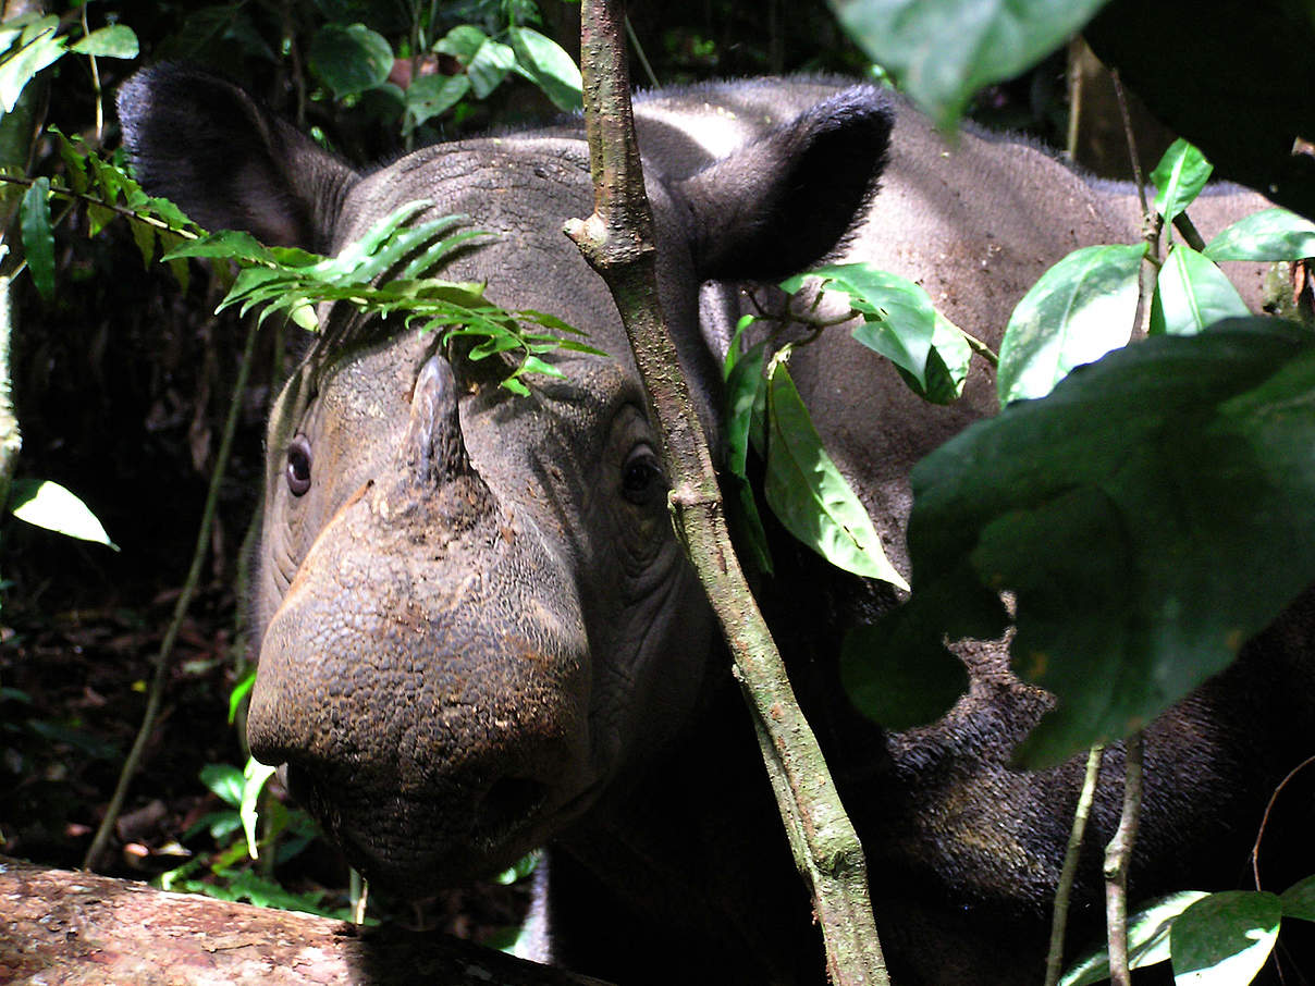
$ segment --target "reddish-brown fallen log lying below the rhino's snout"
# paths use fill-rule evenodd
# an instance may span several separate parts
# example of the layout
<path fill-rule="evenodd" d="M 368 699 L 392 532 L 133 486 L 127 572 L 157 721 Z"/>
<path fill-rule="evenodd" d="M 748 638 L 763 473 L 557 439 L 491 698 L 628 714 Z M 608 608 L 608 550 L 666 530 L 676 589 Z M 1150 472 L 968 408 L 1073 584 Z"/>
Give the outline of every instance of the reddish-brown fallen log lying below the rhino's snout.
<path fill-rule="evenodd" d="M 362 928 L 0 857 L 0 986 L 418 982 L 600 986 L 443 935 Z"/>

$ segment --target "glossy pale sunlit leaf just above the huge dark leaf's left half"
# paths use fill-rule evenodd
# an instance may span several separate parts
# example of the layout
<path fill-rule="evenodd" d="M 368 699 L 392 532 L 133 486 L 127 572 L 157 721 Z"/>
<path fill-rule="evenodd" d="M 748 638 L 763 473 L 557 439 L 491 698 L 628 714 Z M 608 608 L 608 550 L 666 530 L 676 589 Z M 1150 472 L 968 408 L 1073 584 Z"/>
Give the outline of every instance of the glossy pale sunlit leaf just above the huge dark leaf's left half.
<path fill-rule="evenodd" d="M 1074 250 L 1014 308 L 999 347 L 1002 405 L 1044 397 L 1074 367 L 1127 344 L 1145 246 Z"/>

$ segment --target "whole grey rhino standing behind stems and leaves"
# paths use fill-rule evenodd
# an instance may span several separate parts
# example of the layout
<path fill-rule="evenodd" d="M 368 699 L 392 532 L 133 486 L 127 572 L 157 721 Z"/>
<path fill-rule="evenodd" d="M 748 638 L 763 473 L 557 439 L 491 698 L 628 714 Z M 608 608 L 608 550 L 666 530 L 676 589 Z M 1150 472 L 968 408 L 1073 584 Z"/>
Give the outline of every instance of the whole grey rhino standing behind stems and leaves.
<path fill-rule="evenodd" d="M 498 234 L 444 276 L 560 316 L 608 354 L 551 356 L 564 379 L 534 377 L 521 397 L 433 334 L 326 314 L 339 340 L 312 347 L 270 419 L 254 753 L 287 764 L 347 857 L 400 894 L 550 845 L 546 957 L 579 972 L 822 982 L 752 727 L 672 532 L 619 319 L 562 233 L 592 210 L 579 121 L 358 171 L 200 72 L 146 70 L 118 110 L 147 189 L 208 227 L 335 251 L 429 200 L 431 214 Z M 839 250 L 918 279 L 997 344 L 1049 264 L 1137 235 L 1126 189 L 1030 146 L 945 143 L 869 87 L 659 92 L 636 117 L 661 302 L 714 447 L 735 284 Z M 909 471 L 994 411 L 990 372 L 957 404 L 930 406 L 843 330 L 798 350 L 792 372 L 907 571 Z M 763 605 L 861 835 L 896 981 L 1039 982 L 1080 770 L 1023 773 L 1007 759 L 1047 697 L 1009 674 L 1002 648 L 965 644 L 972 688 L 955 710 L 884 732 L 846 705 L 836 652 L 894 590 L 786 538 L 775 551 Z M 1135 897 L 1241 877 L 1265 798 L 1312 724 L 1304 624 L 1269 636 L 1149 731 Z M 1112 831 L 1120 768 L 1111 751 L 1093 844 Z M 1073 947 L 1101 919 L 1098 870 L 1093 849 Z"/>

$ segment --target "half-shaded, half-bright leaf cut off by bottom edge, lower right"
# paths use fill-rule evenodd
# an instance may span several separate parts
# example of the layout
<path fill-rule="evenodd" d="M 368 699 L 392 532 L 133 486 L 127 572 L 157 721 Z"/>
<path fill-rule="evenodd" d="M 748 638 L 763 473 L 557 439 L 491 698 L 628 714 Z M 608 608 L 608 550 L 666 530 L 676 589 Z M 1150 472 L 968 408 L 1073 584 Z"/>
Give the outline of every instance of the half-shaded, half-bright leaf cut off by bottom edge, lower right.
<path fill-rule="evenodd" d="M 1191 904 L 1173 923 L 1174 986 L 1251 982 L 1278 937 L 1282 904 L 1276 894 L 1224 890 Z"/>

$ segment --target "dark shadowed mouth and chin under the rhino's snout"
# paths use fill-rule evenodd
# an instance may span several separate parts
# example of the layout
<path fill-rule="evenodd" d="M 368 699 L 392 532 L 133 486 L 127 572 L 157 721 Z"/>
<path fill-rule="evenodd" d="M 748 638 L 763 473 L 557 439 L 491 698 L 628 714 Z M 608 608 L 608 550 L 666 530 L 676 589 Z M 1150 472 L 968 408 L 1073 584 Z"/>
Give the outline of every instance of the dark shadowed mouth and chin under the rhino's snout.
<path fill-rule="evenodd" d="M 554 805 L 539 781 L 504 777 L 481 795 L 425 793 L 355 797 L 288 765 L 292 797 L 320 822 L 372 886 L 408 899 L 433 897 L 508 869 L 540 848 L 592 801 L 585 793 Z"/>

